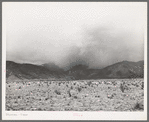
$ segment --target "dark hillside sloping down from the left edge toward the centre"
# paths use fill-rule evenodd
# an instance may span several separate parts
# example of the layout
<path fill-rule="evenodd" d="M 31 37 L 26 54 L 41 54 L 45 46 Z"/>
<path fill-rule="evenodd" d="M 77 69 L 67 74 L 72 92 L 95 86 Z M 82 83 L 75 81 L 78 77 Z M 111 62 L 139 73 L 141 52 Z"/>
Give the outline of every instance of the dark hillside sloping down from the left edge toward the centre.
<path fill-rule="evenodd" d="M 6 78 L 13 76 L 19 79 L 65 79 L 65 75 L 40 65 L 6 62 Z"/>

